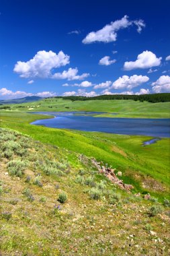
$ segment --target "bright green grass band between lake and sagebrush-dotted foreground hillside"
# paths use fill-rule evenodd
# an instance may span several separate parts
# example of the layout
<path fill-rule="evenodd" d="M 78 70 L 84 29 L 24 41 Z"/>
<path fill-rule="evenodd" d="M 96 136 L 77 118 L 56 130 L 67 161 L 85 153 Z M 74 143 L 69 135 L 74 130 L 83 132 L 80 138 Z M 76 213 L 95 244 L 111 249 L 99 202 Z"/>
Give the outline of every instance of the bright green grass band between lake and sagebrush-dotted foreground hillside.
<path fill-rule="evenodd" d="M 169 197 L 169 139 L 142 147 L 142 141 L 148 137 L 87 133 L 29 124 L 38 118 L 37 115 L 26 113 L 11 115 L 1 112 L 1 127 L 9 127 L 42 142 L 93 156 L 122 170 L 124 181 L 133 184 L 136 191 L 148 191 L 160 199 Z"/>

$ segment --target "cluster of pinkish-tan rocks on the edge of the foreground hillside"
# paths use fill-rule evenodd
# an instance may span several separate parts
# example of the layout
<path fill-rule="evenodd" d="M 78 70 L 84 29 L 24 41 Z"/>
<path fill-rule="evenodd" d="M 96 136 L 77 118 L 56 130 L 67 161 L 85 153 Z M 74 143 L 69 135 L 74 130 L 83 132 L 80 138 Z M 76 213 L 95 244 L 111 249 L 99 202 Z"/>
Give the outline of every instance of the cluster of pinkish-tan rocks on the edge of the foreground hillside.
<path fill-rule="evenodd" d="M 99 170 L 100 173 L 103 173 L 112 183 L 118 185 L 121 189 L 126 189 L 127 191 L 130 191 L 131 189 L 134 189 L 132 185 L 125 184 L 121 179 L 119 179 L 116 174 L 115 170 L 110 167 L 100 166 L 99 163 L 92 158 L 91 160 L 92 164 Z M 118 172 L 118 176 L 122 177 L 122 172 Z"/>

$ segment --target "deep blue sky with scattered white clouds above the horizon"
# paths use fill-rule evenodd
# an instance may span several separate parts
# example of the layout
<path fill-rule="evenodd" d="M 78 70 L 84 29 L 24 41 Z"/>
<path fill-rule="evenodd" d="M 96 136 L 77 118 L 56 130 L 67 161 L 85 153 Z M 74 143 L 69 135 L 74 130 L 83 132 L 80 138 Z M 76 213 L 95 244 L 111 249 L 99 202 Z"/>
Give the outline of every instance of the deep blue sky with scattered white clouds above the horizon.
<path fill-rule="evenodd" d="M 169 0 L 0 0 L 0 99 L 170 92 Z"/>

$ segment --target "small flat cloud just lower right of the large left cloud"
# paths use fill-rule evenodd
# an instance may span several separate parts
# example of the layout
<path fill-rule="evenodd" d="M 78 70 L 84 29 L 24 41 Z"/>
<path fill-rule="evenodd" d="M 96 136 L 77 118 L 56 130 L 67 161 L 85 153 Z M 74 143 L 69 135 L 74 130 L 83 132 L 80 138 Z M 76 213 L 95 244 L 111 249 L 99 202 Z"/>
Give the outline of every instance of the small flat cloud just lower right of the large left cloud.
<path fill-rule="evenodd" d="M 62 73 L 54 73 L 52 75 L 53 79 L 68 79 L 69 81 L 71 80 L 82 80 L 85 77 L 89 76 L 89 73 L 83 73 L 82 75 L 77 75 L 78 73 L 77 67 L 75 69 L 72 69 L 71 67 L 68 70 L 63 71 Z"/>

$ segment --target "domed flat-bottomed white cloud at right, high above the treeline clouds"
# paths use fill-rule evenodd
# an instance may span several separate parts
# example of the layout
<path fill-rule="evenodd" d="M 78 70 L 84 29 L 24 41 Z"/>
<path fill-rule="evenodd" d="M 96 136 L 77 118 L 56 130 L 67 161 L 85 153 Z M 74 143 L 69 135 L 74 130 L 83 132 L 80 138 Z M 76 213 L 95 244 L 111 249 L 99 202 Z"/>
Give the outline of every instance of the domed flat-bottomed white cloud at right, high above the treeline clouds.
<path fill-rule="evenodd" d="M 161 59 L 161 57 L 157 58 L 155 53 L 152 53 L 151 51 L 143 51 L 138 55 L 136 61 L 126 61 L 124 63 L 124 69 L 148 69 L 150 67 L 159 66 L 161 64 Z"/>

